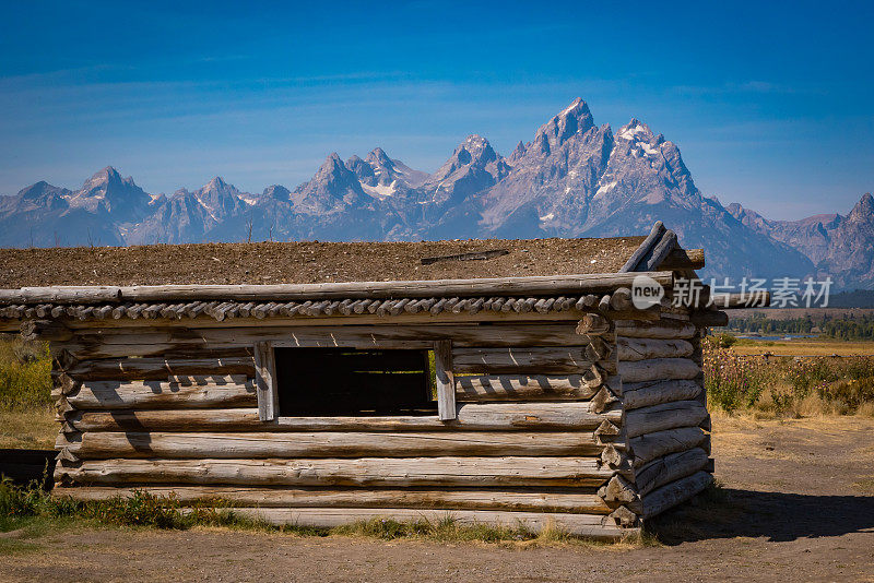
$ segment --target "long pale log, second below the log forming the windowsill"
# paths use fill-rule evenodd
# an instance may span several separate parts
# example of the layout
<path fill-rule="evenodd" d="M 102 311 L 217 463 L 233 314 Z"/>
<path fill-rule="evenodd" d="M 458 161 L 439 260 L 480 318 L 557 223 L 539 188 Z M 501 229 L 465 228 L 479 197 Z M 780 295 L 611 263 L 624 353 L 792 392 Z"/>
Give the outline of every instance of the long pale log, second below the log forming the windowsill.
<path fill-rule="evenodd" d="M 363 457 L 355 460 L 99 460 L 64 469 L 64 484 L 239 486 L 594 487 L 613 475 L 580 457 Z"/>

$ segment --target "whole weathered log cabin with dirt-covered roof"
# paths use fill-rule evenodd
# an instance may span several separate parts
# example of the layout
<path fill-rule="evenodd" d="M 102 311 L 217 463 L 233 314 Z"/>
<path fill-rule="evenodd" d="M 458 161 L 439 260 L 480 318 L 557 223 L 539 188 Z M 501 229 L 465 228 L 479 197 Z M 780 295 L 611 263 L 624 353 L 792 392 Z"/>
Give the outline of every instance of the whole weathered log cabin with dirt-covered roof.
<path fill-rule="evenodd" d="M 357 243 L 361 257 L 314 257 L 328 283 L 302 283 L 296 262 L 277 284 L 247 270 L 245 283 L 181 285 L 181 257 L 131 285 L 92 253 L 93 270 L 71 264 L 102 285 L 63 265 L 55 281 L 12 278 L 26 285 L 0 289 L 0 332 L 49 342 L 58 496 L 143 490 L 277 524 L 451 515 L 622 538 L 711 483 L 700 340 L 728 318 L 706 286 L 674 301 L 704 251 L 661 223 L 558 240 L 559 257 L 555 241 Z M 410 269 L 367 281 L 365 255 L 392 245 Z M 357 272 L 344 281 L 330 261 Z M 664 297 L 636 301 L 640 276 Z"/>

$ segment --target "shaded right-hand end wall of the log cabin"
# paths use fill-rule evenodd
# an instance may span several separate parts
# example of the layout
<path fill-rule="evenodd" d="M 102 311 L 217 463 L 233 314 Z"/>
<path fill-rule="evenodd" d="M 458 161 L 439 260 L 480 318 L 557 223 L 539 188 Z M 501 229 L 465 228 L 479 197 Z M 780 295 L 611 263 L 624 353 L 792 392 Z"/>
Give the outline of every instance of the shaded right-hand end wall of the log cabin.
<path fill-rule="evenodd" d="M 665 301 L 658 321 L 617 325 L 623 437 L 633 477 L 625 483 L 613 480 L 605 495 L 628 499 L 627 505 L 641 519 L 683 502 L 710 484 L 702 326 L 690 314 Z"/>

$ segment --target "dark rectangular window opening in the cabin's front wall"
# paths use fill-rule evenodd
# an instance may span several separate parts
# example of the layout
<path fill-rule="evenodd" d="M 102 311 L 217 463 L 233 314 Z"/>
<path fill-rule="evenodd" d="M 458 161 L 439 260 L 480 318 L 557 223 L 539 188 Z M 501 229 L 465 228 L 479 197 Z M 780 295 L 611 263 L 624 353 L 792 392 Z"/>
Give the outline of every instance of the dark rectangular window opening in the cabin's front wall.
<path fill-rule="evenodd" d="M 436 415 L 430 350 L 275 348 L 281 417 Z"/>

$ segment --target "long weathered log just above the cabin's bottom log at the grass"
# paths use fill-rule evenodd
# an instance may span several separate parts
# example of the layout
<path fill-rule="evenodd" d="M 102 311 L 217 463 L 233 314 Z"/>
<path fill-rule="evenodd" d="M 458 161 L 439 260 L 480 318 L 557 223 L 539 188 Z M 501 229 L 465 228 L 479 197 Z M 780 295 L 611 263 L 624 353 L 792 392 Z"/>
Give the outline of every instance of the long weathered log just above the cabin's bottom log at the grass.
<path fill-rule="evenodd" d="M 108 500 L 129 497 L 134 491 L 153 496 L 175 496 L 182 504 L 221 500 L 235 507 L 259 508 L 433 508 L 444 510 L 510 510 L 609 514 L 611 507 L 595 493 L 579 489 L 539 490 L 423 490 L 328 488 L 245 488 L 233 486 L 105 486 L 56 487 L 55 496 L 74 500 Z"/>

